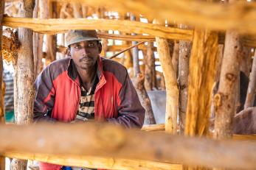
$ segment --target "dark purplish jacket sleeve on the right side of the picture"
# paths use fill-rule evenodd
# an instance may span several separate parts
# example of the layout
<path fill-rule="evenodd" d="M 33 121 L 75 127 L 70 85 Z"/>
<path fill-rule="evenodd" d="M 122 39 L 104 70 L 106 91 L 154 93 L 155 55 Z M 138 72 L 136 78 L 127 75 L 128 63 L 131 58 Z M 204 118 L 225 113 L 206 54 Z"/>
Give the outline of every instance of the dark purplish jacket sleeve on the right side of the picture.
<path fill-rule="evenodd" d="M 118 106 L 118 117 L 108 118 L 107 121 L 114 124 L 121 124 L 128 128 L 141 128 L 144 122 L 145 109 L 139 102 L 139 97 L 127 71 L 119 97 L 120 105 Z"/>

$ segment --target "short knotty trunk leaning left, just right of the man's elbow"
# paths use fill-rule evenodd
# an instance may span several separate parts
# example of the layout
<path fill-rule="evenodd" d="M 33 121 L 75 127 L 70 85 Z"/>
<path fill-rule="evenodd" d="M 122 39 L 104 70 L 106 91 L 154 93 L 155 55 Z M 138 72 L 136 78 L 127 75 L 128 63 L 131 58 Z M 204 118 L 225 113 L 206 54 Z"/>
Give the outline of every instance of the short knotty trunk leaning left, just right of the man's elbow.
<path fill-rule="evenodd" d="M 142 103 L 142 107 L 145 108 L 145 119 L 144 124 L 156 124 L 156 120 L 153 116 L 153 110 L 151 107 L 151 100 L 148 97 L 148 93 L 144 87 L 144 76 L 143 74 L 137 74 L 134 81 L 134 87 L 139 96 L 139 101 Z"/>

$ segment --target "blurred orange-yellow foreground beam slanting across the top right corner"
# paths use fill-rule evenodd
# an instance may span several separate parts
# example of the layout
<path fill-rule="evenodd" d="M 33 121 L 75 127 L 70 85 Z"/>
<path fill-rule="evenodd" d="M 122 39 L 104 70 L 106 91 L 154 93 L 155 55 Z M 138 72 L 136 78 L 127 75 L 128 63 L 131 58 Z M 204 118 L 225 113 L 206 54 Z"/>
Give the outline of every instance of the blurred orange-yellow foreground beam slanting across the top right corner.
<path fill-rule="evenodd" d="M 66 1 L 68 0 L 53 0 Z M 118 12 L 142 14 L 147 18 L 177 21 L 215 30 L 236 29 L 241 33 L 256 33 L 256 3 L 237 1 L 217 4 L 197 0 L 75 0 L 90 6 L 104 6 Z"/>

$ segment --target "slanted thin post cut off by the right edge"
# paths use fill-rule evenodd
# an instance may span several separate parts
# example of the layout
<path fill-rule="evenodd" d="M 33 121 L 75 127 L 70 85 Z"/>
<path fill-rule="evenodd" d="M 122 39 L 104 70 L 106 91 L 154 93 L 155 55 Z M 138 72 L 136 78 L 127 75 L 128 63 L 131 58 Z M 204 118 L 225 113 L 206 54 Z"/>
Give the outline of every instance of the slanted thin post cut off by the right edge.
<path fill-rule="evenodd" d="M 244 109 L 248 107 L 253 107 L 253 103 L 255 102 L 255 93 L 256 93 L 256 52 L 252 62 L 252 72 L 250 74 Z"/>

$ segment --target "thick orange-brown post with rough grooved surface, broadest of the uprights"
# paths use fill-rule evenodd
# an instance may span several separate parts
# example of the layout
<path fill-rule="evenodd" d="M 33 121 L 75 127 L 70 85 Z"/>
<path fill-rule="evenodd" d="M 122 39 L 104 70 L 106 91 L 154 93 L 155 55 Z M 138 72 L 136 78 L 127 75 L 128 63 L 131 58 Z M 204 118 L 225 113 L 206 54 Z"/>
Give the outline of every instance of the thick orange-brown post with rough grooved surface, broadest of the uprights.
<path fill-rule="evenodd" d="M 217 61 L 218 34 L 207 29 L 195 29 L 190 55 L 186 135 L 207 135 Z"/>

